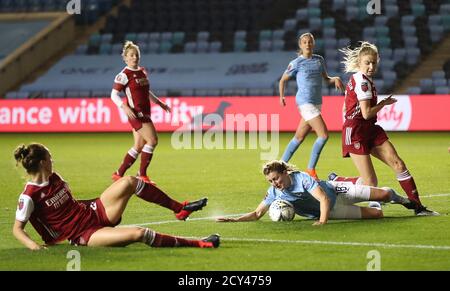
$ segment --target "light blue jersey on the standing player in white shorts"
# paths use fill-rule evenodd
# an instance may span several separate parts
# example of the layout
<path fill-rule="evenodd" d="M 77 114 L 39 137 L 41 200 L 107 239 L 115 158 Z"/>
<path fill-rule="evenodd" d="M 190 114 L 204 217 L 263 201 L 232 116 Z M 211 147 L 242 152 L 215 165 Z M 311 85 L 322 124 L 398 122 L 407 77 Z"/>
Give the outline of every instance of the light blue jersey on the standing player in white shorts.
<path fill-rule="evenodd" d="M 299 56 L 289 63 L 285 74 L 297 79 L 297 105 L 311 103 L 322 104 L 322 73 L 325 71 L 325 61 L 322 56 L 312 55 L 311 58 Z"/>

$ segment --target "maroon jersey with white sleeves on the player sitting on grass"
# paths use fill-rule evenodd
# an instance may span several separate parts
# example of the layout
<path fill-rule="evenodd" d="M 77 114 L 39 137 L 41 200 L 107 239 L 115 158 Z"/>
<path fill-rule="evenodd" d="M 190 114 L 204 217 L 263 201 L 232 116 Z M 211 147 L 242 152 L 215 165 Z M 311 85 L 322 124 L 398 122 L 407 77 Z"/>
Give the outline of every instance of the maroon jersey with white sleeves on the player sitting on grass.
<path fill-rule="evenodd" d="M 80 236 L 97 222 L 91 207 L 72 197 L 67 183 L 56 173 L 43 184 L 27 183 L 19 197 L 16 220 L 30 220 L 47 244 Z"/>

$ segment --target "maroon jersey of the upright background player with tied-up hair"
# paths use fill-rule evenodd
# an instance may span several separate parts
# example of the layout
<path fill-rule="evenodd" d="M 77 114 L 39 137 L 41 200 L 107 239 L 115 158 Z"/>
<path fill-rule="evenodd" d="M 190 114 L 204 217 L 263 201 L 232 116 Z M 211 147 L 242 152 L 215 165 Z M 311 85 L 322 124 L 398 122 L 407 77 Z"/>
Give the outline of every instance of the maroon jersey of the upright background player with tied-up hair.
<path fill-rule="evenodd" d="M 125 92 L 127 104 L 136 112 L 138 118 L 150 117 L 150 83 L 143 67 L 137 70 L 125 67 L 114 79 L 113 88 Z"/>

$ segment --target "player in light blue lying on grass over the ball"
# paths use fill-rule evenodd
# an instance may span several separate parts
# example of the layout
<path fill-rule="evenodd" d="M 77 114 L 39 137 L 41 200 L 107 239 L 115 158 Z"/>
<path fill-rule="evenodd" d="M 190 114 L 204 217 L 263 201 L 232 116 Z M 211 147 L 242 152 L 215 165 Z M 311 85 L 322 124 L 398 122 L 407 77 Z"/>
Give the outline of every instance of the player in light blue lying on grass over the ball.
<path fill-rule="evenodd" d="M 408 198 L 390 188 L 355 185 L 351 182 L 317 182 L 309 174 L 298 171 L 284 161 L 272 161 L 264 165 L 263 174 L 272 185 L 266 197 L 255 211 L 241 217 L 219 217 L 219 222 L 258 220 L 269 210 L 276 199 L 291 202 L 295 213 L 318 219 L 313 225 L 327 223 L 328 219 L 382 218 L 381 208 L 360 207 L 354 203 L 362 201 L 384 201 L 414 208 Z"/>

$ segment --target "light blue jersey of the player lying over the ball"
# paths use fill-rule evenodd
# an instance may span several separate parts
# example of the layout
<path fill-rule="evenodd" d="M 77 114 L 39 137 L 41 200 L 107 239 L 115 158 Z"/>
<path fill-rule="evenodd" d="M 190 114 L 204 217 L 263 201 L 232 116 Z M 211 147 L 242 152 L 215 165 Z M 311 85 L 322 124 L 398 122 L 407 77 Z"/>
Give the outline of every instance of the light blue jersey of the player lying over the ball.
<path fill-rule="evenodd" d="M 295 213 L 308 218 L 320 217 L 320 202 L 311 192 L 320 185 L 330 198 L 330 210 L 336 202 L 336 192 L 334 187 L 326 181 L 317 182 L 310 175 L 303 172 L 293 172 L 289 174 L 292 178 L 292 185 L 283 191 L 270 186 L 267 190 L 264 204 L 270 206 L 276 199 L 282 199 L 291 202 L 294 205 Z"/>

